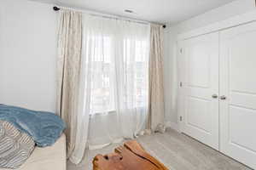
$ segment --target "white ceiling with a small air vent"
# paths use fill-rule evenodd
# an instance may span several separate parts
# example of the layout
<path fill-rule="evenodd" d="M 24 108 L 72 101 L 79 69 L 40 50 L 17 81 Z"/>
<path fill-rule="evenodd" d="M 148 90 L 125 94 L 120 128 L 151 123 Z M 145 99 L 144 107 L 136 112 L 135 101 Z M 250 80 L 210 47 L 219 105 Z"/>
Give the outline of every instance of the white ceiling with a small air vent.
<path fill-rule="evenodd" d="M 137 20 L 175 24 L 234 0 L 33 0 Z M 130 9 L 134 13 L 125 13 Z"/>

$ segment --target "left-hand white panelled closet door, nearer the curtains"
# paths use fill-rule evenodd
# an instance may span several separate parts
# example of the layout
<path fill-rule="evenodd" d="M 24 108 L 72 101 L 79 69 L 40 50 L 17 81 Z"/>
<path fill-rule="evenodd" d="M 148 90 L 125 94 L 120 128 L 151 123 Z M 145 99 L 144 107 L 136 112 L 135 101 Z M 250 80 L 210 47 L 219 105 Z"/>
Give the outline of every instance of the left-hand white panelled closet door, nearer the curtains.
<path fill-rule="evenodd" d="M 218 33 L 183 42 L 183 133 L 218 150 Z"/>

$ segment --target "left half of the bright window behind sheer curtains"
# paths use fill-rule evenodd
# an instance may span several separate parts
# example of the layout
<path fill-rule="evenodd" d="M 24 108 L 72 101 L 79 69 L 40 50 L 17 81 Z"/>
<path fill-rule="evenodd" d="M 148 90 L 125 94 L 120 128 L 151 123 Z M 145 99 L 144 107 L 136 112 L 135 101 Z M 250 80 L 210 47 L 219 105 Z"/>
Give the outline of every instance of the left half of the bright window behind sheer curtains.
<path fill-rule="evenodd" d="M 92 49 L 94 56 L 91 57 L 90 114 L 114 110 L 111 38 L 94 38 L 97 45 Z"/>

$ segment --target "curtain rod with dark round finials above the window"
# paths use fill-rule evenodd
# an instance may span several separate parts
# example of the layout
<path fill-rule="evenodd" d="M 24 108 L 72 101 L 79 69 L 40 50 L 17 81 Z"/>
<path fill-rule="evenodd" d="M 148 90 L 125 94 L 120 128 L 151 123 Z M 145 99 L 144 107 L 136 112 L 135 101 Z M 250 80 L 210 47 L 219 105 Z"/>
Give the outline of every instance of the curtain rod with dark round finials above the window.
<path fill-rule="evenodd" d="M 59 10 L 61 10 L 61 8 L 59 8 L 59 7 L 56 7 L 56 6 L 54 6 L 53 7 L 53 9 L 55 10 L 55 11 L 59 11 Z M 73 9 L 74 10 L 74 8 L 70 8 L 70 9 Z M 78 10 L 78 9 L 75 9 L 75 10 Z M 84 10 L 79 10 L 79 11 L 82 11 L 82 12 L 84 12 Z M 103 17 L 103 18 L 108 18 L 108 19 L 122 19 L 122 20 L 128 20 L 128 21 L 131 21 L 131 22 L 137 22 L 137 23 L 139 23 L 139 24 L 150 24 L 148 21 L 143 21 L 143 20 L 133 20 L 133 19 L 130 19 L 130 18 L 125 18 L 125 17 L 119 17 L 119 16 L 113 16 L 113 15 L 110 15 L 110 14 L 99 14 L 99 13 L 96 13 L 96 12 L 93 12 L 94 14 L 92 14 L 92 11 L 86 11 L 87 12 L 87 14 L 90 14 L 90 15 L 94 15 L 94 16 L 100 16 L 100 17 Z M 163 28 L 166 28 L 166 25 L 162 25 L 163 26 Z"/>

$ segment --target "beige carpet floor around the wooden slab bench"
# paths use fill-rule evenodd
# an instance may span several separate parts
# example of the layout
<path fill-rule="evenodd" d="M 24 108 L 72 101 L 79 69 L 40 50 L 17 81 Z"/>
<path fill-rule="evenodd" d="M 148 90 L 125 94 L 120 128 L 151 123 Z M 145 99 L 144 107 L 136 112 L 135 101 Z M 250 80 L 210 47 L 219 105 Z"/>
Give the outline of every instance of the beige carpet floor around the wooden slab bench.
<path fill-rule="evenodd" d="M 174 130 L 168 130 L 164 134 L 143 136 L 137 141 L 170 170 L 250 170 L 241 163 Z M 91 161 L 96 154 L 111 153 L 118 145 L 112 144 L 102 150 L 90 150 L 78 166 L 68 162 L 67 170 L 91 170 Z"/>

